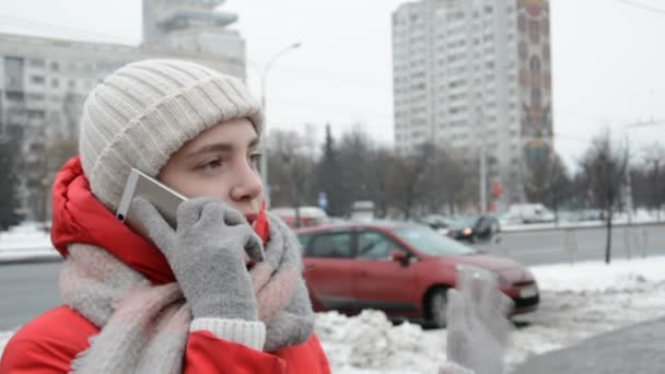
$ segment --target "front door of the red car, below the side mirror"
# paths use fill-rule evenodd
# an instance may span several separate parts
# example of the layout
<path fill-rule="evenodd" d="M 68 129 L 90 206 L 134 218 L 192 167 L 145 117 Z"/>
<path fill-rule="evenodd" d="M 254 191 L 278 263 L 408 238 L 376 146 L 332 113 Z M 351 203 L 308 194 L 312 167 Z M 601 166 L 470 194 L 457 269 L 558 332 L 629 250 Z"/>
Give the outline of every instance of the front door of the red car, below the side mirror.
<path fill-rule="evenodd" d="M 363 308 L 388 314 L 408 314 L 418 308 L 416 267 L 390 259 L 390 253 L 408 253 L 388 235 L 376 230 L 358 233 L 353 297 Z"/>

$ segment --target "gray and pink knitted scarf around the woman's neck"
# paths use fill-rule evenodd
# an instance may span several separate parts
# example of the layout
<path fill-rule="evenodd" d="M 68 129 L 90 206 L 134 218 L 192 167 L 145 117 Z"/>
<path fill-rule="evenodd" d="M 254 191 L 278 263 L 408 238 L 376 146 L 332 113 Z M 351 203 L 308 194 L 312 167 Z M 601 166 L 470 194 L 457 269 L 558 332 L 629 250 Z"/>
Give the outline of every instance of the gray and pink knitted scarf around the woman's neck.
<path fill-rule="evenodd" d="M 266 259 L 250 270 L 267 352 L 305 342 L 314 330 L 298 238 L 281 220 L 269 222 Z M 66 304 L 101 328 L 74 373 L 182 372 L 191 314 L 177 283 L 153 285 L 103 248 L 71 244 L 60 289 Z"/>

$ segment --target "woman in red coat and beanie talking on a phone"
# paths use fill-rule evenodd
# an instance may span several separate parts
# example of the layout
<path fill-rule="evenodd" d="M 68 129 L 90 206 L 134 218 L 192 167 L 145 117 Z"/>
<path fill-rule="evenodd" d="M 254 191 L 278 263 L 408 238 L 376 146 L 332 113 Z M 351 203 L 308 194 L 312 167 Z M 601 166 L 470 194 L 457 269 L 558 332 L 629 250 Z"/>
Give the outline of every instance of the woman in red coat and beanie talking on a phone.
<path fill-rule="evenodd" d="M 236 79 L 178 60 L 125 66 L 81 117 L 54 185 L 63 306 L 25 325 L 0 373 L 329 373 L 298 239 L 265 211 L 261 109 Z M 130 167 L 187 196 L 177 229 L 133 206 Z"/>

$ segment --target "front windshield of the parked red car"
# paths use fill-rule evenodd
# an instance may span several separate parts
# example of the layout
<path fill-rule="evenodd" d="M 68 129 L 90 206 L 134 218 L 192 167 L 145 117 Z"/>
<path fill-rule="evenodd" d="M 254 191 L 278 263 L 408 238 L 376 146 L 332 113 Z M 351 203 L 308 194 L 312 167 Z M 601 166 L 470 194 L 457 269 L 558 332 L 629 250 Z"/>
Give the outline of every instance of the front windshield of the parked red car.
<path fill-rule="evenodd" d="M 399 227 L 395 234 L 416 249 L 432 256 L 468 256 L 476 253 L 425 226 Z"/>

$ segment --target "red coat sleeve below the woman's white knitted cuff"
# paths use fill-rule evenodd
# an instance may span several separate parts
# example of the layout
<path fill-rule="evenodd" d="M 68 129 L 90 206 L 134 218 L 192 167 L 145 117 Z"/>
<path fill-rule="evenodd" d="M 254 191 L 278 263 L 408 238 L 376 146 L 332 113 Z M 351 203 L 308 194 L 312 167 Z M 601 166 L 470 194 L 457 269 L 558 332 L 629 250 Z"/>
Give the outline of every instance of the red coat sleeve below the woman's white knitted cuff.
<path fill-rule="evenodd" d="M 277 355 L 218 339 L 209 331 L 189 334 L 185 374 L 192 373 L 287 373 L 287 362 Z"/>

